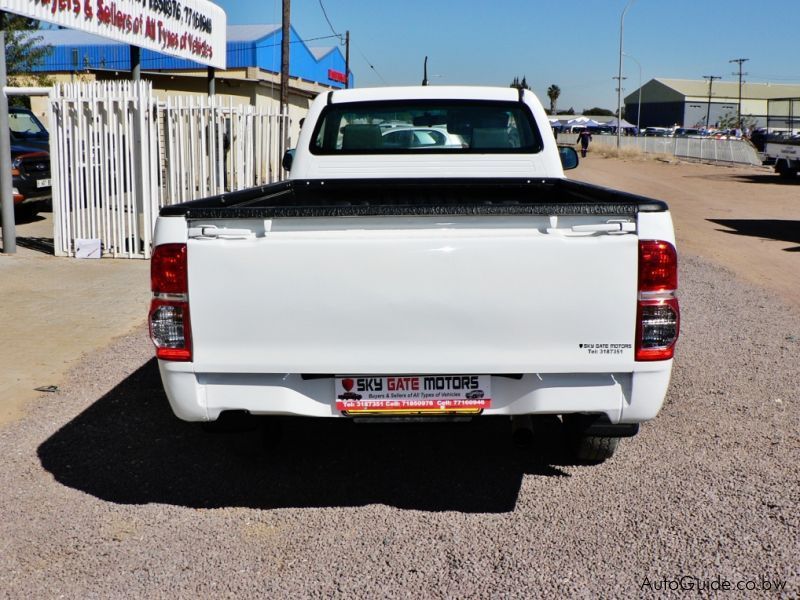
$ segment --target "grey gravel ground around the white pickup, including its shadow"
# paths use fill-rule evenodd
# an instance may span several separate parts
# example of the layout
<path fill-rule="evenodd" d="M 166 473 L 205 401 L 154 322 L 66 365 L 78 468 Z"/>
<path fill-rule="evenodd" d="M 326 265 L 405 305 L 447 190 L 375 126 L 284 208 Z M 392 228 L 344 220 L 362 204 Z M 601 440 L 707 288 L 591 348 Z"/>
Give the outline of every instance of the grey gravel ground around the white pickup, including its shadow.
<path fill-rule="evenodd" d="M 701 259 L 681 284 L 667 405 L 600 466 L 498 419 L 205 434 L 121 338 L 0 429 L 0 596 L 796 598 L 800 315 Z"/>

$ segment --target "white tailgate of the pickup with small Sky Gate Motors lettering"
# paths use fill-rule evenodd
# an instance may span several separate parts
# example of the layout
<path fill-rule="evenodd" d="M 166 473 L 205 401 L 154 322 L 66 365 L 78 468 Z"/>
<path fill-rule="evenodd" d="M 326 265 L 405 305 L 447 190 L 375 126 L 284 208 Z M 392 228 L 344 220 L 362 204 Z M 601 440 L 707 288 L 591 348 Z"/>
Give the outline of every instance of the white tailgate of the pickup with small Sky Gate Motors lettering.
<path fill-rule="evenodd" d="M 637 236 L 597 231 L 608 221 L 189 222 L 195 370 L 631 371 Z"/>

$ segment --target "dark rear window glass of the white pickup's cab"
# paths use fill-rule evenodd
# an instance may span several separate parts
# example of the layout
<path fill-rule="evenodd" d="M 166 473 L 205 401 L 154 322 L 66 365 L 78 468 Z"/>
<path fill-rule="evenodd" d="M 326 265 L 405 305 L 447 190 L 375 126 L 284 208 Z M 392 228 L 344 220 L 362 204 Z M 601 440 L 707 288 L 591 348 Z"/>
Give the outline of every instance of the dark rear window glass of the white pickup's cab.
<path fill-rule="evenodd" d="M 331 104 L 311 141 L 313 154 L 533 153 L 542 149 L 530 110 L 516 102 Z"/>

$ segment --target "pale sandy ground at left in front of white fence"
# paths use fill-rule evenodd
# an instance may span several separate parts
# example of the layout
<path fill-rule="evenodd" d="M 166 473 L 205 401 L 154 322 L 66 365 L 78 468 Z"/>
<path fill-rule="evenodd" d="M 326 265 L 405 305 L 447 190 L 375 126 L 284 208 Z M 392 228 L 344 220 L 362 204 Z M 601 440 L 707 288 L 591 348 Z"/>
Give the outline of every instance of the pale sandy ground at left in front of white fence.
<path fill-rule="evenodd" d="M 0 254 L 0 425 L 84 353 L 141 325 L 150 299 L 149 261 L 53 256 L 50 213 L 22 220 L 17 236 L 17 253 Z"/>

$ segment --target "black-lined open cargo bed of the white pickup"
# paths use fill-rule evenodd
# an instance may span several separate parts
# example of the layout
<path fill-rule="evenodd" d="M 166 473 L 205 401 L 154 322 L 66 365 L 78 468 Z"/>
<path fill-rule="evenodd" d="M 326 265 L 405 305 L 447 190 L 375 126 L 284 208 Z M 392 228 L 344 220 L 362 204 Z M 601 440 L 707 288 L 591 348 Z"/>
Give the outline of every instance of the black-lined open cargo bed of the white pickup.
<path fill-rule="evenodd" d="M 290 180 L 167 206 L 187 219 L 628 215 L 664 202 L 568 179 Z"/>

